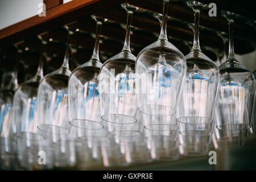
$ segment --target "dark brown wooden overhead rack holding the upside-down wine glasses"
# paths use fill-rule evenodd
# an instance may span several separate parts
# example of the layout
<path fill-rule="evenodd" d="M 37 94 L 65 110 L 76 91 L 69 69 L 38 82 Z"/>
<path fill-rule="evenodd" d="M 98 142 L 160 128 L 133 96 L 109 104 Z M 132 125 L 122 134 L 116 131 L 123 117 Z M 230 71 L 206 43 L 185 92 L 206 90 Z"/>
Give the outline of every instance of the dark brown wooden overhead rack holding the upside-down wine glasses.
<path fill-rule="evenodd" d="M 214 2 L 217 5 L 216 17 L 210 17 L 208 11 L 202 11 L 200 15 L 200 44 L 205 52 L 213 60 L 221 55 L 223 47 L 222 39 L 217 36 L 216 31 L 228 32 L 228 23 L 220 14 L 220 10 L 228 10 L 240 16 L 235 20 L 235 52 L 245 54 L 253 52 L 256 45 L 255 28 L 248 25 L 248 19 L 255 20 L 254 6 L 249 1 L 232 0 L 199 0 L 203 3 Z M 159 34 L 159 22 L 151 12 L 162 13 L 162 1 L 160 0 L 73 0 L 63 4 L 61 0 L 44 0 L 47 11 L 46 16 L 32 16 L 22 22 L 13 24 L 0 30 L 0 68 L 1 72 L 13 69 L 15 63 L 16 49 L 14 43 L 22 41 L 19 47 L 26 49 L 22 53 L 22 62 L 19 71 L 19 82 L 24 81 L 25 73 L 34 73 L 40 56 L 40 41 L 36 35 L 48 31 L 47 38 L 53 42 L 47 46 L 47 55 L 51 60 L 45 65 L 45 73 L 57 69 L 64 56 L 67 31 L 63 27 L 67 23 L 74 22 L 73 28 L 79 28 L 81 32 L 75 34 L 72 44 L 77 47 L 76 60 L 84 63 L 92 55 L 96 23 L 90 15 L 95 14 L 109 19 L 102 27 L 102 44 L 100 45 L 100 56 L 102 62 L 115 53 L 121 51 L 125 37 L 125 29 L 120 24 L 126 23 L 126 12 L 121 9 L 120 4 L 129 2 L 131 5 L 140 7 L 134 14 L 132 25 L 135 27 L 131 37 L 131 48 L 137 55 L 142 48 L 155 42 Z M 185 5 L 185 1 L 170 2 L 167 24 L 169 40 L 177 48 L 187 54 L 193 40 L 193 32 L 188 28 L 186 22 L 193 23 L 193 11 Z M 214 51 L 209 51 L 207 48 Z M 216 55 L 217 52 L 217 55 Z M 71 64 L 71 69 L 76 64 Z M 2 74 L 1 74 L 2 75 Z"/>

